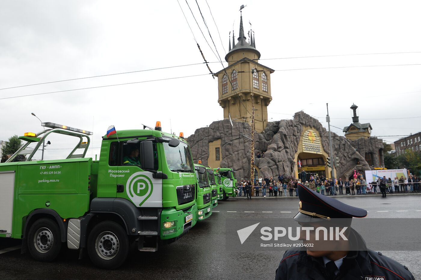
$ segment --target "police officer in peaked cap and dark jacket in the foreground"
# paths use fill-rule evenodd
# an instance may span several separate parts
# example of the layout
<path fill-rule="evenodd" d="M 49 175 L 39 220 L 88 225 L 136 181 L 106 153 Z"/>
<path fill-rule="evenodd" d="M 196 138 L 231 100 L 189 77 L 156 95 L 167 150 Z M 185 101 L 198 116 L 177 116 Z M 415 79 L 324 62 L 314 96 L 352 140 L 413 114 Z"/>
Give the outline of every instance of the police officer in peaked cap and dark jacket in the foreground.
<path fill-rule="evenodd" d="M 305 251 L 286 251 L 276 270 L 275 280 L 415 280 L 408 268 L 402 264 L 383 256 L 380 252 L 367 249 L 361 235 L 350 227 L 352 217 L 365 217 L 367 211 L 320 195 L 300 183 L 298 197 L 299 212 L 294 217 L 295 221 L 301 226 L 340 221 L 343 229 L 347 226 L 348 239 L 322 241 L 324 246 L 319 247 L 317 251 L 309 247 L 304 248 Z M 300 239 L 304 240 L 301 237 Z M 344 246 L 337 249 L 338 244 Z"/>

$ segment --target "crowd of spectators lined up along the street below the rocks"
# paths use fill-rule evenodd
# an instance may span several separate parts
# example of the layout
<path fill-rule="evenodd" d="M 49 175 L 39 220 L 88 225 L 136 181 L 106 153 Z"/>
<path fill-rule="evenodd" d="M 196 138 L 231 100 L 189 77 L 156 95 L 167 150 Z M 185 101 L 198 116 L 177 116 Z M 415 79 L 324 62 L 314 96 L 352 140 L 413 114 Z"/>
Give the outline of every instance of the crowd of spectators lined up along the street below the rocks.
<path fill-rule="evenodd" d="M 342 180 L 339 178 L 325 178 L 324 176 L 318 177 L 311 175 L 309 180 L 301 182 L 300 179 L 288 179 L 284 175 L 279 175 L 278 180 L 274 180 L 273 177 L 259 177 L 258 180 L 252 184 L 250 180 L 241 180 L 238 184 L 237 193 L 239 196 L 247 196 L 251 199 L 251 193 L 256 196 L 269 197 L 274 196 L 298 196 L 297 184 L 302 183 L 309 189 L 320 193 L 322 195 L 365 195 L 371 193 L 377 193 L 377 190 L 382 194 L 382 197 L 386 197 L 386 193 L 408 193 L 408 192 L 420 192 L 421 181 L 417 176 L 410 175 L 407 179 L 404 176 L 400 178 L 379 177 L 378 180 L 373 182 L 367 182 L 363 175 L 354 176 L 352 180 Z M 378 189 L 377 189 L 378 188 Z M 295 192 L 295 195 L 294 195 Z"/>

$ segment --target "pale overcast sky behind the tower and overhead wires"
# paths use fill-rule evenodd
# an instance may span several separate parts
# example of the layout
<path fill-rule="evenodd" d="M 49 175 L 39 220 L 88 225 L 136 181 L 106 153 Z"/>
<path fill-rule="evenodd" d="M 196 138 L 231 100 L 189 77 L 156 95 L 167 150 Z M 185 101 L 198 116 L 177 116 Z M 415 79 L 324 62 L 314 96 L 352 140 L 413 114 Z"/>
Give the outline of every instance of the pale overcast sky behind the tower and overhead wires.
<path fill-rule="evenodd" d="M 187 2 L 216 53 L 196 2 Z M 275 70 L 269 119 L 291 119 L 304 110 L 327 127 L 328 102 L 331 124 L 341 128 L 332 129 L 344 135 L 342 128 L 352 122 L 349 107 L 355 103 L 360 122 L 370 122 L 373 136 L 421 130 L 420 1 L 197 0 L 223 65 L 186 1 L 179 3 L 213 72 L 227 66 L 229 32 L 234 24 L 238 37 L 238 10 L 247 5 L 242 10 L 246 33 L 250 21 L 261 53 L 259 62 Z M 223 118 L 217 80 L 205 65 L 144 71 L 203 62 L 176 0 L 3 0 L 0 26 L 1 89 L 139 71 L 5 89 L 0 90 L 0 98 L 141 82 L 1 99 L 0 140 L 42 130 L 33 112 L 43 122 L 93 131 L 88 156 L 94 157 L 110 125 L 117 130 L 140 129 L 141 124 L 155 126 L 159 120 L 163 130 L 172 128 L 177 135 L 182 131 L 189 136 Z M 371 53 L 394 54 L 352 55 Z M 397 64 L 418 65 L 378 67 Z M 327 67 L 348 68 L 320 69 Z M 204 75 L 168 79 L 199 74 Z M 145 82 L 157 79 L 168 80 Z M 52 149 L 72 148 L 68 138 L 51 138 L 51 142 L 46 159 L 69 151 Z"/>

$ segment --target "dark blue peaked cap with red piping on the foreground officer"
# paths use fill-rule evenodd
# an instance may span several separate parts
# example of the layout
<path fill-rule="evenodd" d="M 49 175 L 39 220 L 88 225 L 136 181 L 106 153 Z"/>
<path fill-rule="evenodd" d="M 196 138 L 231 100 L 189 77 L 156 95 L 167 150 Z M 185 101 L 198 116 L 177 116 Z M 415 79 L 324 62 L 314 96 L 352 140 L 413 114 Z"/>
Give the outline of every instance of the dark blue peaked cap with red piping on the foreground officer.
<path fill-rule="evenodd" d="M 317 222 L 321 220 L 352 219 L 367 216 L 367 211 L 347 205 L 329 196 L 310 190 L 301 183 L 297 184 L 299 209 L 294 217 L 297 222 Z"/>

